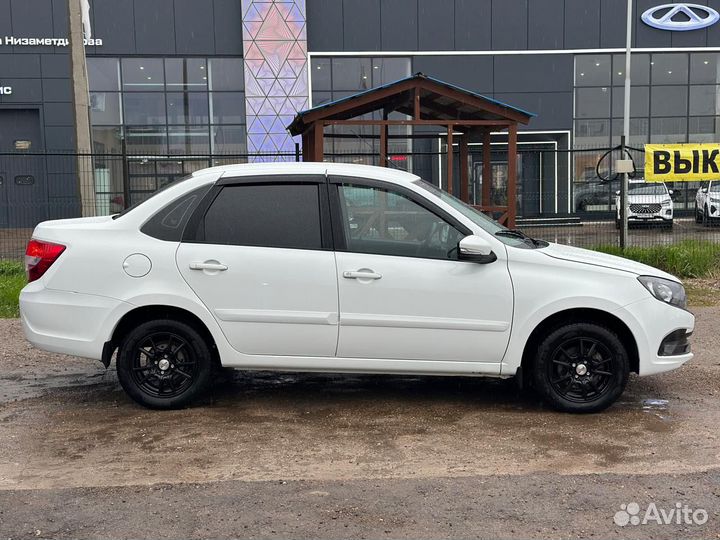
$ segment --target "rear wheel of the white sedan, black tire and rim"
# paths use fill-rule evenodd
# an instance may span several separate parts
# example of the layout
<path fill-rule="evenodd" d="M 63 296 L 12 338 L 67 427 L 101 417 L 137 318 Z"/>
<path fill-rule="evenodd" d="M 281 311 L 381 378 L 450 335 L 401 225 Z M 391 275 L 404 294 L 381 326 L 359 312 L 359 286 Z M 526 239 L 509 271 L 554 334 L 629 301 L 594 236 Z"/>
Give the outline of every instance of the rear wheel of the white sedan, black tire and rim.
<path fill-rule="evenodd" d="M 131 330 L 120 344 L 117 374 L 136 402 L 151 409 L 186 406 L 207 387 L 210 347 L 192 326 L 156 320 Z"/>

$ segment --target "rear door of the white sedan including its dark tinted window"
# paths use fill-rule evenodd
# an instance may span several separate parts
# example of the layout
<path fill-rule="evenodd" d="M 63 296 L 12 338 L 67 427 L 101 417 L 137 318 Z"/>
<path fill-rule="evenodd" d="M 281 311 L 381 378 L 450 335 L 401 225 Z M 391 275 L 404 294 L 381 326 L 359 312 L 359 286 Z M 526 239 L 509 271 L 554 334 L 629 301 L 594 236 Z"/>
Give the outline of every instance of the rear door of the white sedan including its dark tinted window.
<path fill-rule="evenodd" d="M 335 355 L 324 177 L 222 179 L 188 224 L 177 264 L 237 351 Z"/>

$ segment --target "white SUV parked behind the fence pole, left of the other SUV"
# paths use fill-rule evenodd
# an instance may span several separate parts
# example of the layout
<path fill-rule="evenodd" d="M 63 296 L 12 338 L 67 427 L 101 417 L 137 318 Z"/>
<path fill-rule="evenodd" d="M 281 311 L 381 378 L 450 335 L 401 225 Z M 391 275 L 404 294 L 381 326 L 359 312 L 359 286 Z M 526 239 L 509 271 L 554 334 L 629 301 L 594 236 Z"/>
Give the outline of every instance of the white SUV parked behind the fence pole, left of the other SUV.
<path fill-rule="evenodd" d="M 628 183 L 628 224 L 673 226 L 673 191 L 664 182 L 630 181 Z M 620 192 L 615 192 L 615 224 L 620 226 Z"/>

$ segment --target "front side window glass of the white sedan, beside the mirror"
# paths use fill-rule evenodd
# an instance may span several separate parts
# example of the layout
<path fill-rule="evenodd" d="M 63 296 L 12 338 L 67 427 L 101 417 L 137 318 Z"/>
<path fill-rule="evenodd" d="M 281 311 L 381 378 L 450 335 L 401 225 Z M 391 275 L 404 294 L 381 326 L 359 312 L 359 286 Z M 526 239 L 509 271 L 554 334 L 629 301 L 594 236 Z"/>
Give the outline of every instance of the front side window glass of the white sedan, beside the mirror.
<path fill-rule="evenodd" d="M 348 251 L 457 259 L 465 235 L 427 208 L 381 188 L 343 184 L 338 189 Z"/>

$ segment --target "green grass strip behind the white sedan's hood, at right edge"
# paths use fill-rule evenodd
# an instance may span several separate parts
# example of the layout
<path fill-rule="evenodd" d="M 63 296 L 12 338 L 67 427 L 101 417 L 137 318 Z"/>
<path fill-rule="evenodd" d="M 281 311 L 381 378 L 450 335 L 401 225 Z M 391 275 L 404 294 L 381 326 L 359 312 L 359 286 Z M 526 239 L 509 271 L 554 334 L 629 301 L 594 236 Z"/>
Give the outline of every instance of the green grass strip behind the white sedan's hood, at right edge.
<path fill-rule="evenodd" d="M 648 264 L 680 278 L 712 277 L 720 270 L 720 244 L 683 240 L 652 247 L 598 246 L 597 251 Z"/>

